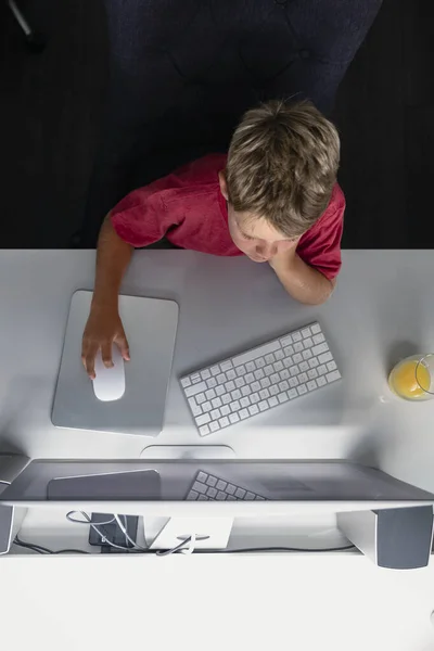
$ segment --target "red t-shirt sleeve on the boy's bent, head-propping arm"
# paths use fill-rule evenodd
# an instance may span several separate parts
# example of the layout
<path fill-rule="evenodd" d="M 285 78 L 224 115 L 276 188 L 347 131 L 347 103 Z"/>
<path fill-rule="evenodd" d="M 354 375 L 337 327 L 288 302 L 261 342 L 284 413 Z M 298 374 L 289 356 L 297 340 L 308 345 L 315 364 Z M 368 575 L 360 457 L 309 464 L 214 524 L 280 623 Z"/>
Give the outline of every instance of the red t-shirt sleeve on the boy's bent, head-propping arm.
<path fill-rule="evenodd" d="M 333 280 L 341 269 L 344 212 L 345 196 L 336 183 L 326 212 L 303 235 L 297 246 L 299 257 L 329 280 Z"/>

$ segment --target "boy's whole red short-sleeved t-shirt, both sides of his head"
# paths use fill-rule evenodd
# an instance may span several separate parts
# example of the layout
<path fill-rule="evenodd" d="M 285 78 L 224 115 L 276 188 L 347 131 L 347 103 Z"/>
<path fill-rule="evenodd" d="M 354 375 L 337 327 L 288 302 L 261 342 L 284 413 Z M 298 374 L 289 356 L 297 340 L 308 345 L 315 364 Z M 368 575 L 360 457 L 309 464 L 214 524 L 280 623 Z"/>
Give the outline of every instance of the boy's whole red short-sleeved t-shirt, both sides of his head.
<path fill-rule="evenodd" d="M 228 209 L 218 173 L 227 156 L 212 154 L 130 192 L 112 210 L 116 233 L 135 247 L 166 237 L 182 248 L 213 255 L 243 255 L 229 234 Z M 318 221 L 298 242 L 299 257 L 327 278 L 341 268 L 345 197 L 336 183 Z"/>

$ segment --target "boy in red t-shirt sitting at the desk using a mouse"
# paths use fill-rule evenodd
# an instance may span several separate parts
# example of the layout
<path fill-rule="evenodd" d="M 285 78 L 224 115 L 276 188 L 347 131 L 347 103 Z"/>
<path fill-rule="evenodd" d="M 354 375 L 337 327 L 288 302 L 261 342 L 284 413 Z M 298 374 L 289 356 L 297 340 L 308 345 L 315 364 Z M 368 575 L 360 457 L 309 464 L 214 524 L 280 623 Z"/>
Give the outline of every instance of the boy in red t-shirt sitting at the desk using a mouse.
<path fill-rule="evenodd" d="M 166 237 L 214 255 L 268 263 L 302 303 L 327 301 L 341 267 L 345 200 L 336 183 L 340 140 L 308 102 L 248 111 L 228 155 L 209 155 L 128 194 L 101 228 L 82 362 L 94 378 L 101 348 L 129 359 L 117 296 L 135 247 Z"/>

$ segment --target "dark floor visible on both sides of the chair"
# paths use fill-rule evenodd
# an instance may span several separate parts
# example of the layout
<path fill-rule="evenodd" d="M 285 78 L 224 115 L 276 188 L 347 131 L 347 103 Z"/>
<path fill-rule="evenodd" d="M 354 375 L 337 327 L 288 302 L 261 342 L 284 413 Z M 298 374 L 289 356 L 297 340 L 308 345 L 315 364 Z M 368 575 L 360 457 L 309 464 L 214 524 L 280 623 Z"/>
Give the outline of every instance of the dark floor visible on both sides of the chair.
<path fill-rule="evenodd" d="M 81 225 L 106 80 L 100 0 L 21 0 L 49 35 L 29 53 L 0 2 L 1 247 L 68 247 Z M 434 5 L 385 0 L 342 84 L 345 247 L 433 247 Z"/>

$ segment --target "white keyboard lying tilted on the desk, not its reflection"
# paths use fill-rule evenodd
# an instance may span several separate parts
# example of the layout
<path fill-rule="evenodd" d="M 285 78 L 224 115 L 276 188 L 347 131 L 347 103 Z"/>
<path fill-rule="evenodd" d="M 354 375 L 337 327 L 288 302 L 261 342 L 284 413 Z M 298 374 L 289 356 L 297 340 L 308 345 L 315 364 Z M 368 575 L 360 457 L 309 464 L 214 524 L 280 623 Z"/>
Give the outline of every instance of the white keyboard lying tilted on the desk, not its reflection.
<path fill-rule="evenodd" d="M 311 323 L 180 382 L 206 436 L 340 379 L 319 323 Z"/>

